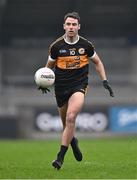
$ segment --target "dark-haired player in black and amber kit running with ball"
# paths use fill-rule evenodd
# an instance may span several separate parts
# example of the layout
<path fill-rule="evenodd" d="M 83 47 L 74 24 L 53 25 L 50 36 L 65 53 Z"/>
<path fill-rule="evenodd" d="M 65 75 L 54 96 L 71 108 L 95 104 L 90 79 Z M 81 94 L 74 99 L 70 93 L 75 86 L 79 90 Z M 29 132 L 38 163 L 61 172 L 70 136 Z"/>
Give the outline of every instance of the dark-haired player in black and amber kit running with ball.
<path fill-rule="evenodd" d="M 109 85 L 105 69 L 94 46 L 87 39 L 79 36 L 80 17 L 77 12 L 68 13 L 64 17 L 65 34 L 50 45 L 48 68 L 55 68 L 55 96 L 59 114 L 63 124 L 60 150 L 52 166 L 60 169 L 69 144 L 77 161 L 82 160 L 82 153 L 78 147 L 78 140 L 74 136 L 76 117 L 80 112 L 88 86 L 88 68 L 90 60 L 108 89 L 110 96 L 114 96 Z M 43 92 L 47 89 L 39 88 Z"/>

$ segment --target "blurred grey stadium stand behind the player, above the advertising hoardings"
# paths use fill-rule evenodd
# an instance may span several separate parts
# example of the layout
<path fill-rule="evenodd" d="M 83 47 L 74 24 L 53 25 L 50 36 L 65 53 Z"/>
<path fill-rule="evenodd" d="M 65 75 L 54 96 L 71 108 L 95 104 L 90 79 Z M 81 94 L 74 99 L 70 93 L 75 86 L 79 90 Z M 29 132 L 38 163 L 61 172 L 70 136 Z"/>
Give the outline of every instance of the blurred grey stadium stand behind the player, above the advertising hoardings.
<path fill-rule="evenodd" d="M 34 73 L 46 64 L 70 11 L 80 13 L 80 34 L 102 57 L 116 96 L 109 98 L 91 64 L 85 104 L 137 104 L 136 0 L 0 0 L 0 116 L 16 116 L 20 106 L 55 105 L 37 91 Z"/>

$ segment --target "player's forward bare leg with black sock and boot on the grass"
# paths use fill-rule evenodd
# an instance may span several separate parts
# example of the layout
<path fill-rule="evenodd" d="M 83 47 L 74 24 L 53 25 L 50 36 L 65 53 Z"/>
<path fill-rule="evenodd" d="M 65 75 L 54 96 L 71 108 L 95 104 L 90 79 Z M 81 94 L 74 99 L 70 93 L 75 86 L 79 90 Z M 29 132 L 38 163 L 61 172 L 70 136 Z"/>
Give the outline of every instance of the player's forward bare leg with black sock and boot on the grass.
<path fill-rule="evenodd" d="M 61 168 L 65 154 L 68 150 L 68 146 L 72 138 L 74 137 L 76 117 L 77 114 L 80 112 L 83 103 L 84 103 L 84 94 L 81 92 L 75 92 L 69 98 L 67 112 L 66 112 L 66 126 L 62 134 L 62 143 L 61 143 L 60 151 L 57 155 L 57 159 L 52 162 L 52 165 L 57 169 Z"/>

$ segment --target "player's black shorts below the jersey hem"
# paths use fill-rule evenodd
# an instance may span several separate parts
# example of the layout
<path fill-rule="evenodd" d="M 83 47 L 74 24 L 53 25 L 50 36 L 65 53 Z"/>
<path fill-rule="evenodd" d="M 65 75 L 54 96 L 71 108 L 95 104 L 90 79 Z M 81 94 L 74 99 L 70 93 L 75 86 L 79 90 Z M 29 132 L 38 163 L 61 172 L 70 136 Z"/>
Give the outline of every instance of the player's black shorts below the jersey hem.
<path fill-rule="evenodd" d="M 73 88 L 68 88 L 67 90 L 62 89 L 62 92 L 55 91 L 58 107 L 62 107 L 65 103 L 67 103 L 70 96 L 72 96 L 75 92 L 82 92 L 85 94 L 87 92 L 87 84 L 81 84 Z"/>

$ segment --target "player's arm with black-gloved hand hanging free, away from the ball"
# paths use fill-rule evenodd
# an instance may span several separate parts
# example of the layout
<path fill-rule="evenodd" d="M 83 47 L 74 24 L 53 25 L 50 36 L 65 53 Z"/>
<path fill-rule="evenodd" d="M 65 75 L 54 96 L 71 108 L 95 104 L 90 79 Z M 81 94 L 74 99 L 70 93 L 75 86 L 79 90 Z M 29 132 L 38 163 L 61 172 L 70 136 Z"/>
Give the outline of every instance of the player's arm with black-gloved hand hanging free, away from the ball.
<path fill-rule="evenodd" d="M 92 58 L 91 58 L 92 62 L 94 63 L 95 65 L 95 68 L 96 68 L 96 71 L 98 72 L 101 80 L 103 81 L 103 86 L 105 89 L 107 89 L 110 93 L 110 96 L 114 97 L 114 93 L 113 93 L 113 90 L 107 80 L 107 77 L 106 77 L 106 72 L 105 72 L 105 68 L 104 68 L 104 65 L 100 59 L 100 57 L 98 56 L 97 53 L 95 53 Z"/>

